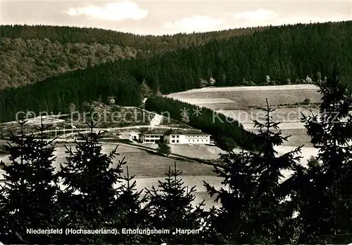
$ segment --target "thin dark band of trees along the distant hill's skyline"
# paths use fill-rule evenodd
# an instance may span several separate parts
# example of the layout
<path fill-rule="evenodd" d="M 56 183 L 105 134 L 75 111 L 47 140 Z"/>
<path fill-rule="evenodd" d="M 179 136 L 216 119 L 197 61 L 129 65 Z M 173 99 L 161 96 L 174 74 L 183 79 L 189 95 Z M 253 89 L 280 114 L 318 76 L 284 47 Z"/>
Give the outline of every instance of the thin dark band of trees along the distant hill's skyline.
<path fill-rule="evenodd" d="M 116 44 L 142 51 L 172 51 L 192 45 L 201 45 L 213 39 L 228 39 L 263 31 L 269 27 L 247 27 L 215 32 L 179 33 L 175 35 L 138 35 L 99 28 L 81 28 L 49 25 L 0 25 L 0 38 L 49 39 L 61 44 Z"/>

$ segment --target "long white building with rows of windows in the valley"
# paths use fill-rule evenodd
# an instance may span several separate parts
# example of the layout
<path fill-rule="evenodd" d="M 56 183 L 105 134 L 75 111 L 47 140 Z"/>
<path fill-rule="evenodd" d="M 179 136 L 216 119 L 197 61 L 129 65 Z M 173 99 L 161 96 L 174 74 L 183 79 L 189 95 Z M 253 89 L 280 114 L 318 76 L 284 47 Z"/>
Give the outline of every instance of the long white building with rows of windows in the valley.
<path fill-rule="evenodd" d="M 139 138 L 143 143 L 158 143 L 162 137 L 168 144 L 210 144 L 210 135 L 196 129 L 153 129 L 141 133 Z"/>

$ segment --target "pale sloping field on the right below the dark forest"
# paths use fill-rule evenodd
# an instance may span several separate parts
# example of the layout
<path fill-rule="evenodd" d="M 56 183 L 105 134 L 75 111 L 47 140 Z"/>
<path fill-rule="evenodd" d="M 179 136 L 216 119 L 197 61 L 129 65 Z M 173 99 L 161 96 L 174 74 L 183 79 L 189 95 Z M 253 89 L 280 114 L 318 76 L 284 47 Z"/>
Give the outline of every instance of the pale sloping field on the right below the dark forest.
<path fill-rule="evenodd" d="M 199 107 L 206 107 L 215 112 L 225 114 L 227 117 L 239 121 L 244 128 L 249 131 L 255 131 L 252 119 L 258 121 L 265 120 L 265 114 L 260 109 L 248 109 L 249 107 L 265 107 L 266 99 L 272 106 L 277 105 L 294 105 L 297 102 L 303 102 L 306 98 L 312 103 L 321 101 L 321 94 L 318 92 L 318 86 L 313 84 L 297 84 L 283 86 L 251 86 L 251 87 L 213 87 L 200 88 L 180 93 L 167 95 L 169 98 L 175 98 L 184 102 L 189 102 Z M 314 114 L 318 110 L 312 109 Z M 310 115 L 310 108 L 307 107 L 280 107 L 272 112 L 271 116 L 274 121 L 282 121 L 280 128 L 305 129 L 301 123 L 301 114 Z M 213 119 L 216 120 L 214 115 Z M 293 140 L 291 138 L 290 140 Z M 297 141 L 295 139 L 294 141 Z M 298 140 L 299 141 L 299 140 Z M 304 137 L 303 142 L 308 142 Z"/>

